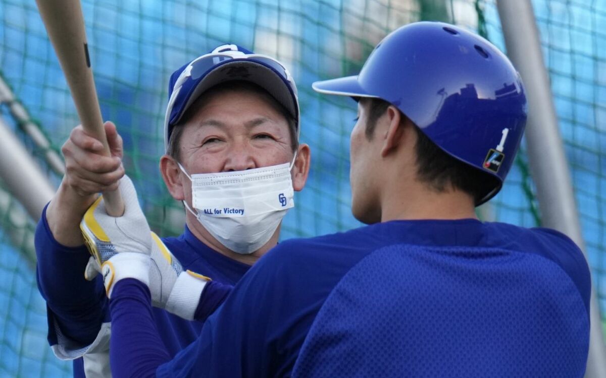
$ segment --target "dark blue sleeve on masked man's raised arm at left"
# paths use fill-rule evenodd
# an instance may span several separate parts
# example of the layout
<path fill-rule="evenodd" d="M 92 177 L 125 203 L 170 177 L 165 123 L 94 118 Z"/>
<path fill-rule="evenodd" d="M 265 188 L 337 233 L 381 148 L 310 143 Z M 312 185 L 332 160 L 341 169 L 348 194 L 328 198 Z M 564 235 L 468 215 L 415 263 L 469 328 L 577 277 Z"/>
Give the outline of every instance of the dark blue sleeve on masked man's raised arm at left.
<path fill-rule="evenodd" d="M 46 208 L 35 233 L 36 278 L 47 303 L 48 342 L 60 359 L 75 359 L 108 347 L 107 298 L 101 277 L 84 278 L 89 254 L 65 247 L 52 235 Z"/>

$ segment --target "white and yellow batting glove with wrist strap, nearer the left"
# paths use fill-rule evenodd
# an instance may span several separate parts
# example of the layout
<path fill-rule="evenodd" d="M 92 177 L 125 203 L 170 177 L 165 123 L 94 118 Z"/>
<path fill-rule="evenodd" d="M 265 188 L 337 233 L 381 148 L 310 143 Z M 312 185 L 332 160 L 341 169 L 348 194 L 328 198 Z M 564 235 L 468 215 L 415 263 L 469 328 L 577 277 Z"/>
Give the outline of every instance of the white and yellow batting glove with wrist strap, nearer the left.
<path fill-rule="evenodd" d="M 151 230 L 130 178 L 122 177 L 118 190 L 124 201 L 122 217 L 108 215 L 103 197 L 99 197 L 80 223 L 94 259 L 89 261 L 85 275 L 90 275 L 92 269 L 100 270 L 108 298 L 116 282 L 124 278 L 135 278 L 149 285 Z"/>

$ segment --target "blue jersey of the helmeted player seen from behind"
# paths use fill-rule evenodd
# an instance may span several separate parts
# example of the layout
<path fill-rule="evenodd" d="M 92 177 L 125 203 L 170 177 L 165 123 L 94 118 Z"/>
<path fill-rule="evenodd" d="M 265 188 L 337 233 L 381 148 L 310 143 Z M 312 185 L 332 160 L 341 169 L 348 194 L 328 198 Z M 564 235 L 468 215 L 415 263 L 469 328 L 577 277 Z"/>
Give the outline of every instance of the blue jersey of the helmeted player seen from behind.
<path fill-rule="evenodd" d="M 112 313 L 141 303 L 122 286 Z M 390 221 L 279 244 L 194 344 L 148 368 L 162 363 L 158 377 L 582 377 L 590 290 L 584 256 L 559 232 Z M 114 336 L 132 331 L 136 345 L 162 348 L 115 326 Z M 116 369 L 145 356 L 121 348 L 112 344 Z"/>

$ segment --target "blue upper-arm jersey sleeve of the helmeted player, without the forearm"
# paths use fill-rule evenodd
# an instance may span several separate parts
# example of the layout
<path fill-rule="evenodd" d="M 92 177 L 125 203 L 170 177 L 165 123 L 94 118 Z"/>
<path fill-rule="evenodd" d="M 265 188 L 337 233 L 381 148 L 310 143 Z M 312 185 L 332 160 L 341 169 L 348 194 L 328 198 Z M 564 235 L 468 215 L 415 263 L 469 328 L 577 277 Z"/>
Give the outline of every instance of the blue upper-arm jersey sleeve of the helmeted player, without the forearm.
<path fill-rule="evenodd" d="M 156 376 L 289 376 L 335 279 L 316 279 L 317 262 L 299 258 L 291 246 L 281 243 L 256 262 L 198 339 L 161 365 Z"/>

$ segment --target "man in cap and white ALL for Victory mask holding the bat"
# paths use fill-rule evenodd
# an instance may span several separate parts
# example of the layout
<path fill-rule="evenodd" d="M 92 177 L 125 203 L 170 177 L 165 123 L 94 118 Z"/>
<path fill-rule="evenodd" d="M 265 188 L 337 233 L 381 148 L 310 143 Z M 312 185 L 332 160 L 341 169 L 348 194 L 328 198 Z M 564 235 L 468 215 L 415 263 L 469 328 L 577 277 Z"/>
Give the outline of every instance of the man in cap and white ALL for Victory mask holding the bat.
<path fill-rule="evenodd" d="M 167 271 L 162 269 L 173 276 L 193 270 L 214 284 L 235 285 L 276 245 L 282 217 L 294 205 L 293 191 L 300 191 L 307 179 L 310 152 L 298 141 L 295 82 L 277 60 L 222 45 L 176 70 L 169 94 L 166 154 L 160 169 L 170 194 L 184 204 L 186 225 L 178 238 L 164 239 L 181 264 L 159 264 L 156 281 L 165 278 Z M 63 148 L 67 173 L 36 229 L 48 339 L 59 358 L 75 359 L 78 377 L 110 376 L 108 301 L 101 276 L 95 277 L 99 266 L 94 259 L 89 261 L 78 227 L 98 192 L 115 189 L 124 175 L 121 138 L 112 123 L 105 129 L 113 157 L 100 155 L 101 143 L 80 127 L 72 132 Z M 92 224 L 94 217 L 84 229 L 94 233 Z M 155 246 L 157 253 L 164 249 L 157 238 Z M 91 281 L 84 279 L 85 267 Z M 153 295 L 158 297 L 156 305 L 170 311 L 174 306 L 166 293 L 181 281 L 175 277 L 168 281 L 161 284 L 164 295 Z M 197 302 L 203 287 L 194 280 L 182 289 L 189 295 L 198 290 Z M 225 295 L 222 290 L 213 293 L 204 305 L 190 307 L 187 315 L 171 312 L 203 319 Z M 167 311 L 156 308 L 153 316 L 163 344 L 174 356 L 196 339 L 201 324 Z"/>

